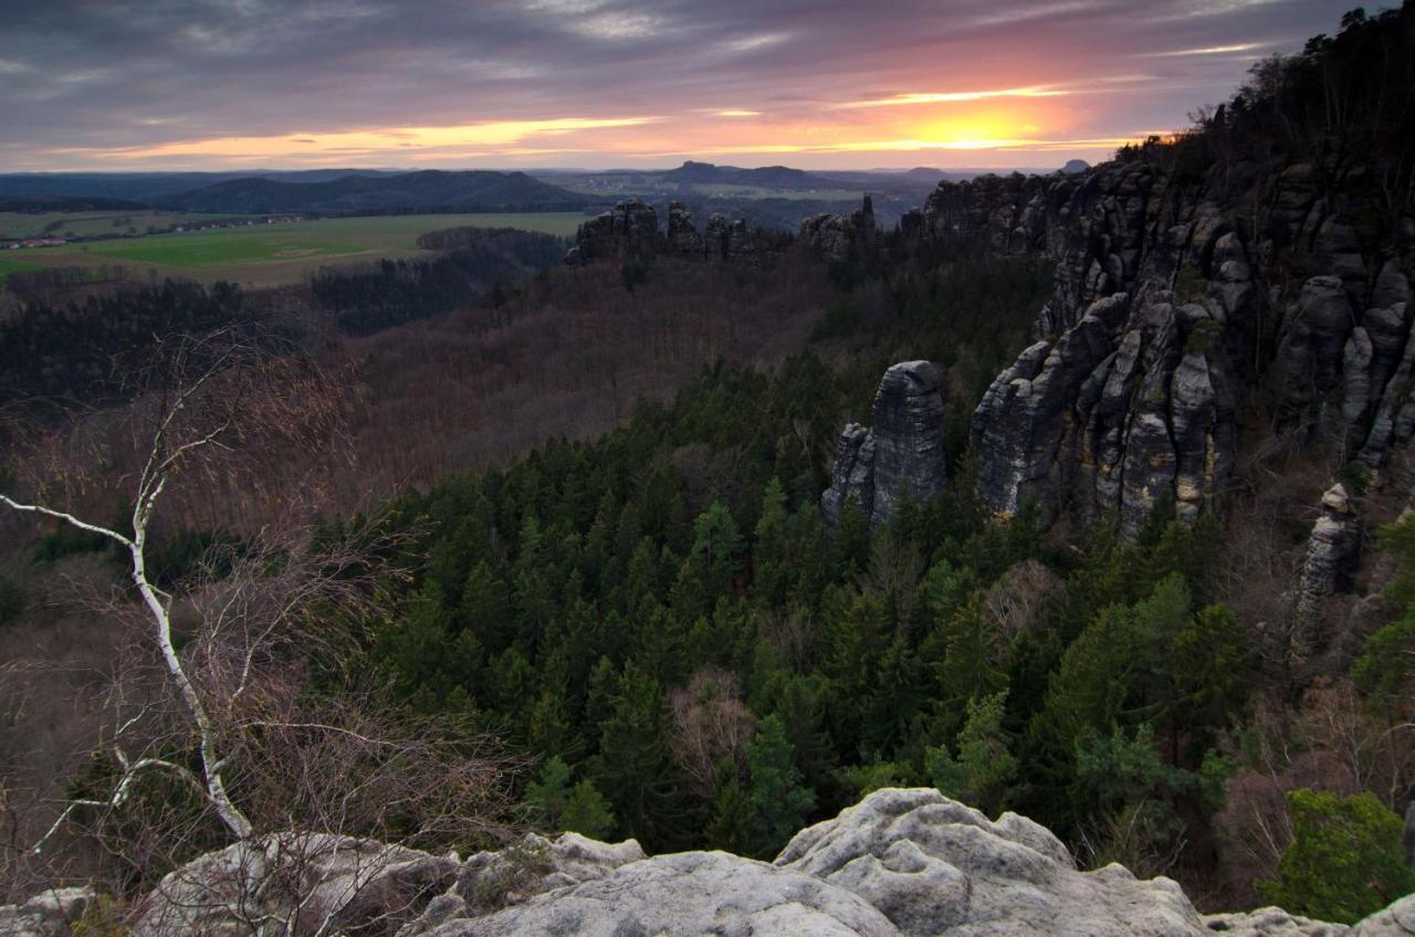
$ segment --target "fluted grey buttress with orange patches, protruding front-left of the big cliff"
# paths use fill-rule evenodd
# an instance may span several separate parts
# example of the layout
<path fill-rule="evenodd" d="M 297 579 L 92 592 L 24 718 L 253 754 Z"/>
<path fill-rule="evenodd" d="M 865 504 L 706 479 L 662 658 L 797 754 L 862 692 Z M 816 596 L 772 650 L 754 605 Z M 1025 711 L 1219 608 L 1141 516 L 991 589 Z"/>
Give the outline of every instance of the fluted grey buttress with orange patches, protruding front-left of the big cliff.
<path fill-rule="evenodd" d="M 974 415 L 978 490 L 1012 517 L 1114 519 L 1133 534 L 1170 500 L 1182 519 L 1217 510 L 1234 460 L 1234 393 L 1206 304 L 1169 294 L 1094 301 L 1054 341 L 1003 371 Z"/>

